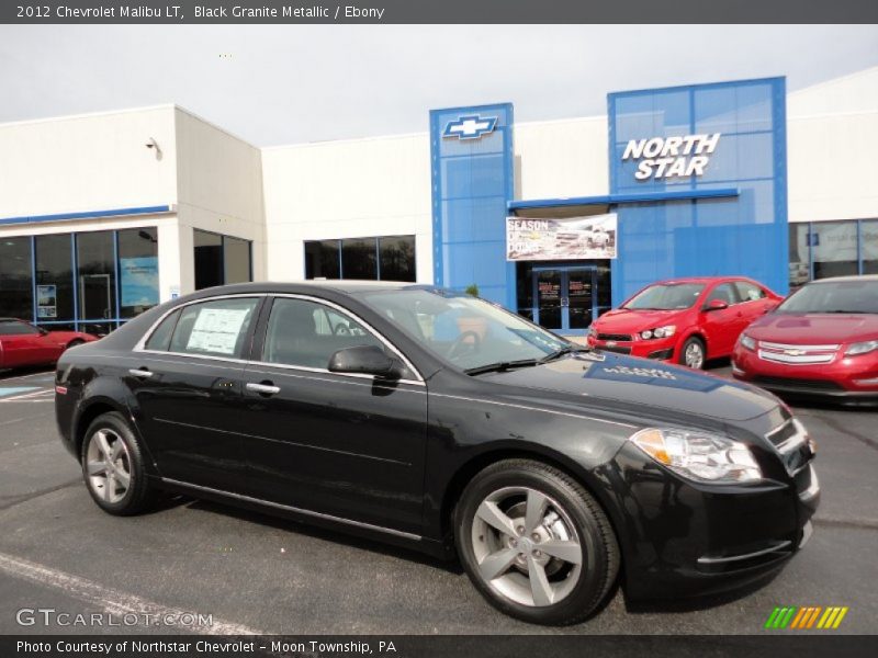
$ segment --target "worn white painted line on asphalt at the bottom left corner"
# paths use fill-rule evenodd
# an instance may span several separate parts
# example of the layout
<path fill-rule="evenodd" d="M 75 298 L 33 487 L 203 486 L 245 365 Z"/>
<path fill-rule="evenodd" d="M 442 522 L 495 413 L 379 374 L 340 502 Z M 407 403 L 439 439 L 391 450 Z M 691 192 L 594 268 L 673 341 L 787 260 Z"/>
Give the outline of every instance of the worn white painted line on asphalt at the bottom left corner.
<path fill-rule="evenodd" d="M 0 553 L 0 571 L 5 571 L 11 576 L 23 578 L 45 587 L 61 590 L 69 597 L 85 601 L 90 605 L 99 606 L 104 612 L 119 616 L 144 613 L 158 615 L 160 619 L 167 615 L 178 620 L 181 619 L 182 615 L 194 614 L 198 616 L 198 613 L 191 610 L 161 605 L 155 601 L 110 589 L 91 580 L 4 553 Z M 212 617 L 212 620 L 213 625 L 211 626 L 185 626 L 185 628 L 193 633 L 201 633 L 204 635 L 263 635 L 259 631 L 235 624 L 234 622 L 226 622 L 217 620 L 216 617 Z M 175 626 L 175 628 L 180 628 L 180 626 Z"/>

